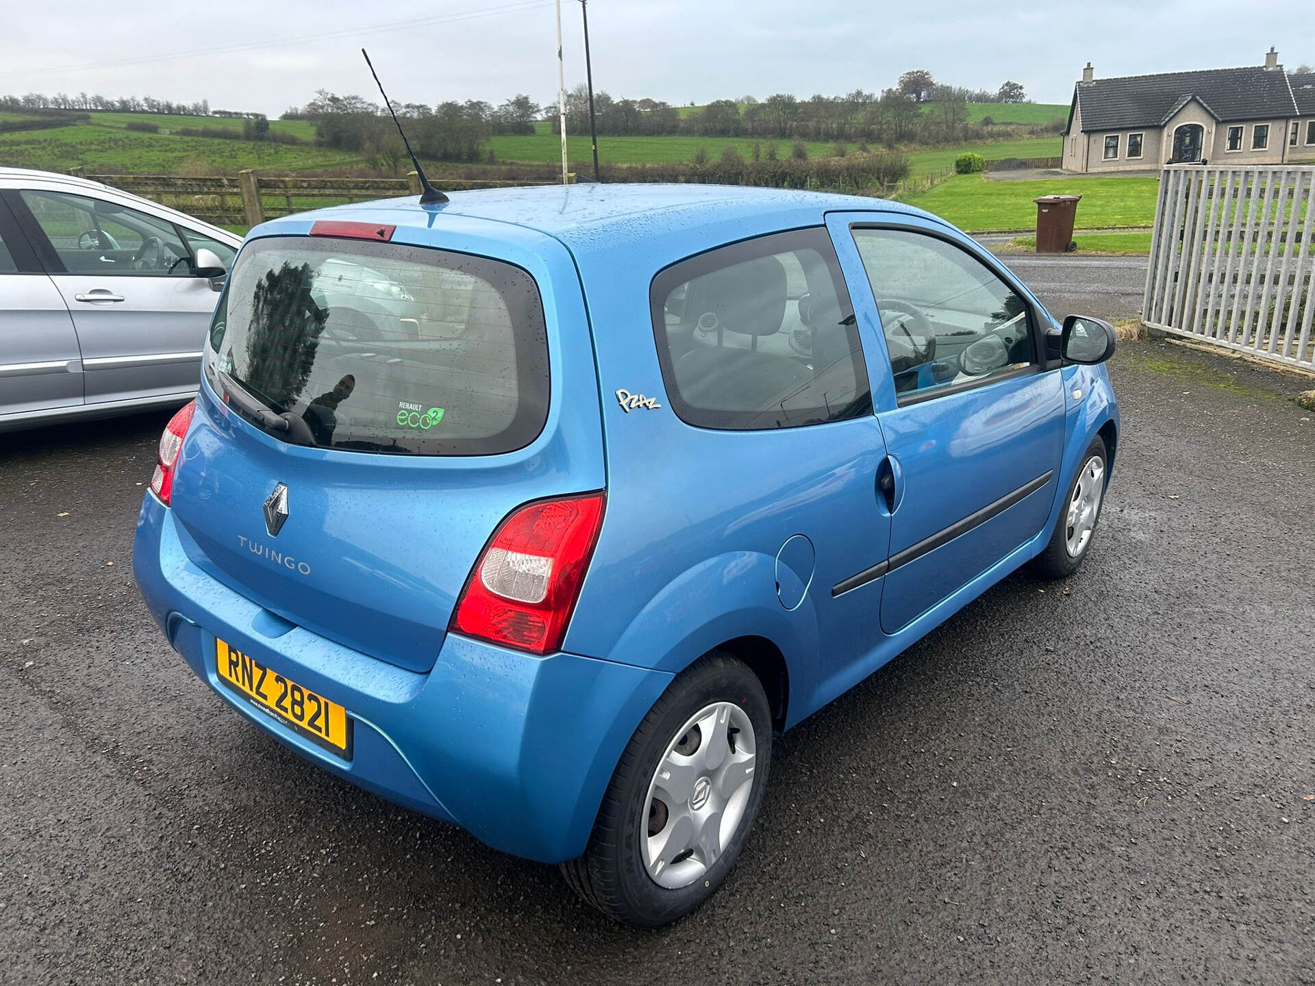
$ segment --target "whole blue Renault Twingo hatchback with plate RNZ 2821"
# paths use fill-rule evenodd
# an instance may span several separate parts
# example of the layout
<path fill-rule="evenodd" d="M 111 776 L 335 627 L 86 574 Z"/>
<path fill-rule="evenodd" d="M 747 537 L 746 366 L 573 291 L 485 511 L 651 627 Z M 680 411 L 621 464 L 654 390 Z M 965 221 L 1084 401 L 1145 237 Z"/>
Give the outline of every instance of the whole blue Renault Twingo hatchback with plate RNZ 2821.
<path fill-rule="evenodd" d="M 325 769 L 680 918 L 772 738 L 1023 563 L 1073 572 L 1114 331 L 893 202 L 572 185 L 258 226 L 134 572 Z"/>

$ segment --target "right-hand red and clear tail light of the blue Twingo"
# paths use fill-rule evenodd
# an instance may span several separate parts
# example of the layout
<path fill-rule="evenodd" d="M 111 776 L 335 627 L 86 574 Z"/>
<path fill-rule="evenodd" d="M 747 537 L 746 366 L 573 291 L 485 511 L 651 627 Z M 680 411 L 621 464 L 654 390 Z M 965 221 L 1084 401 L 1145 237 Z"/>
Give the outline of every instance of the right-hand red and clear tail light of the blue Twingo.
<path fill-rule="evenodd" d="M 602 527 L 604 494 L 526 504 L 493 532 L 452 630 L 531 653 L 562 647 Z"/>

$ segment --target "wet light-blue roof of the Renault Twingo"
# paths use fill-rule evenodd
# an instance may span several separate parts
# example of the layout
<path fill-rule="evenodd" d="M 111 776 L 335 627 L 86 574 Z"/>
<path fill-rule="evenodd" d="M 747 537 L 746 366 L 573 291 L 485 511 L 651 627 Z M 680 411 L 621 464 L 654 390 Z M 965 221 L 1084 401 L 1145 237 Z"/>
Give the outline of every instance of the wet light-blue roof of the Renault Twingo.
<path fill-rule="evenodd" d="M 764 220 L 778 220 L 780 229 L 789 229 L 792 225 L 817 223 L 827 212 L 874 210 L 936 220 L 922 209 L 885 199 L 743 185 L 588 183 L 447 195 L 450 201 L 438 206 L 439 214 L 508 222 L 544 233 L 572 250 L 588 252 L 619 248 L 636 238 L 710 225 L 734 225 L 747 220 L 755 220 L 755 225 Z M 435 227 L 434 212 L 433 208 L 421 206 L 414 197 L 406 197 L 337 205 L 289 216 L 287 220 L 297 221 L 299 227 L 305 221 L 317 218 L 359 218 L 398 226 Z M 274 220 L 262 226 L 260 233 L 277 234 L 283 222 Z"/>

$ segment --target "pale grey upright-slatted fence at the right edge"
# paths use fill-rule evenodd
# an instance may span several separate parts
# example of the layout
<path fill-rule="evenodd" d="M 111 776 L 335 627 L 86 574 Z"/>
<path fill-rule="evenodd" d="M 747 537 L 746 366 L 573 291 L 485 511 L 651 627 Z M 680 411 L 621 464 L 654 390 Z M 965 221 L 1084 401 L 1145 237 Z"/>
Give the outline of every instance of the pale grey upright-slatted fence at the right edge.
<path fill-rule="evenodd" d="M 1166 166 L 1143 321 L 1315 368 L 1312 223 L 1315 166 Z"/>

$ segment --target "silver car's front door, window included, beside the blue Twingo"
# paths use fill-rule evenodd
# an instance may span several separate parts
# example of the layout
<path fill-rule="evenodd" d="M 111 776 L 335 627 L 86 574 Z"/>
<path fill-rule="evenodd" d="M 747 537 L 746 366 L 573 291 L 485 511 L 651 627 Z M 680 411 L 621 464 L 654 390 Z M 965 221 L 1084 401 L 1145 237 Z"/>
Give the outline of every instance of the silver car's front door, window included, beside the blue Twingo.
<path fill-rule="evenodd" d="M 110 197 L 39 188 L 9 204 L 72 313 L 87 404 L 195 392 L 218 297 L 168 220 Z"/>

